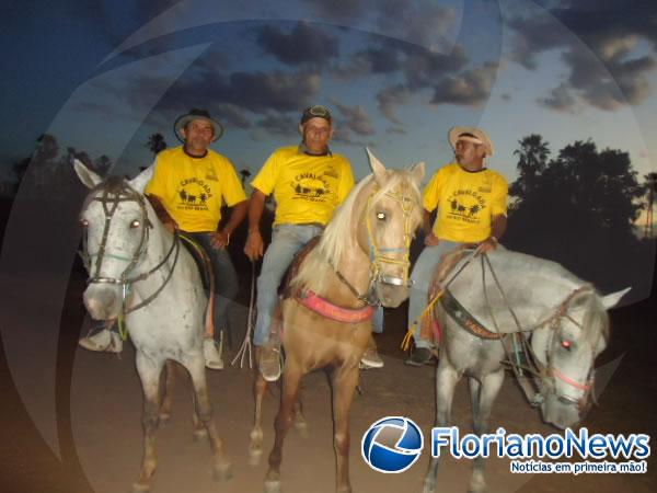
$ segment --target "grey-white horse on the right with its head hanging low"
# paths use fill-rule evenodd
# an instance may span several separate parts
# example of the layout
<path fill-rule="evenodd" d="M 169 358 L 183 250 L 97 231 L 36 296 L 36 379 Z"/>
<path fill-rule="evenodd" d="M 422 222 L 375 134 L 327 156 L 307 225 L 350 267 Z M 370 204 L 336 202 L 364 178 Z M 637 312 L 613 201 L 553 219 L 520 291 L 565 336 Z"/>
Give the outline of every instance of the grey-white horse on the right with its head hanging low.
<path fill-rule="evenodd" d="M 529 366 L 510 363 L 530 403 L 540 405 L 543 421 L 558 428 L 578 423 L 592 392 L 593 360 L 609 340 L 606 310 L 629 289 L 600 296 L 561 265 L 504 248 L 465 255 L 447 278 L 440 276 L 447 279 L 442 287 L 449 286 L 435 308 L 442 328 L 436 426 L 449 426 L 454 388 L 465 375 L 474 433 L 488 433 L 491 409 L 504 380 L 503 359 L 512 359 L 512 333 L 531 334 L 529 345 L 519 337 Z M 533 375 L 538 391 L 520 378 L 520 366 Z M 435 491 L 437 473 L 438 458 L 434 458 L 424 493 Z M 474 459 L 469 491 L 480 493 L 485 488 L 480 456 Z"/>

